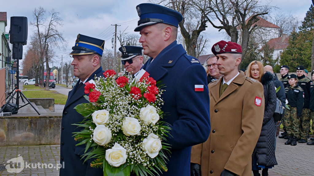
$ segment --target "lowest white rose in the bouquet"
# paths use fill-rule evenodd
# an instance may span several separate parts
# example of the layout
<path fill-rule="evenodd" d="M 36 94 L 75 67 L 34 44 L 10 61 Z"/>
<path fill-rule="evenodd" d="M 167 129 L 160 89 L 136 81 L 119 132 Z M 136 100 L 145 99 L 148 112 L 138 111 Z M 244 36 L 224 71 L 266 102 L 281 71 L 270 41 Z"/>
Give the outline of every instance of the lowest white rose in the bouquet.
<path fill-rule="evenodd" d="M 119 167 L 127 161 L 127 150 L 118 143 L 106 150 L 106 160 L 111 166 Z"/>

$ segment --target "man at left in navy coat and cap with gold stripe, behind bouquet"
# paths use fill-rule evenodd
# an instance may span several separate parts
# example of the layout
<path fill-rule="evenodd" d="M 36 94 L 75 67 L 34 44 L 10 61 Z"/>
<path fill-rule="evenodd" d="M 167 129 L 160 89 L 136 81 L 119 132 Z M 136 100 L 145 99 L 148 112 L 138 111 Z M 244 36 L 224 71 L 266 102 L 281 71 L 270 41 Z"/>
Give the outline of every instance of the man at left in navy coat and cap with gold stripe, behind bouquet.
<path fill-rule="evenodd" d="M 89 80 L 94 80 L 95 76 L 103 76 L 101 67 L 101 56 L 104 50 L 105 41 L 93 37 L 78 34 L 73 51 L 74 76 L 78 77 L 78 83 L 69 92 L 68 100 L 64 106 L 61 122 L 61 147 L 60 147 L 60 176 L 68 175 L 103 175 L 102 168 L 91 168 L 90 159 L 84 163 L 81 155 L 84 154 L 85 145 L 75 146 L 79 141 L 75 141 L 73 132 L 81 131 L 75 123 L 82 122 L 83 116 L 74 107 L 81 103 L 88 103 L 84 98 L 84 85 Z"/>

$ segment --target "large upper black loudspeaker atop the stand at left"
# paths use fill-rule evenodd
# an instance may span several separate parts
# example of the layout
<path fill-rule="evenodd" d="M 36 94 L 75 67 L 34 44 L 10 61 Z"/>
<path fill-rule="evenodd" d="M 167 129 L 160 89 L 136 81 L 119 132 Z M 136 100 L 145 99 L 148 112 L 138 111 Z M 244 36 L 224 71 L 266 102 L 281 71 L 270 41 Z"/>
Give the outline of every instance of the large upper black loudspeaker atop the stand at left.
<path fill-rule="evenodd" d="M 10 43 L 27 44 L 27 18 L 11 17 L 10 21 Z"/>

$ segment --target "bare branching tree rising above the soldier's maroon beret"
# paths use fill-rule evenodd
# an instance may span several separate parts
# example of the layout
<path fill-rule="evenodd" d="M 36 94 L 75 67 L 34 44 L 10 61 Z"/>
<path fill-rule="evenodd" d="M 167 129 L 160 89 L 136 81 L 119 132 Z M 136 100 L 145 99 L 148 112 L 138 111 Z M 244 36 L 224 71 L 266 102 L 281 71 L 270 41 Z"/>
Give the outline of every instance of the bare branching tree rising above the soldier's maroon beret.
<path fill-rule="evenodd" d="M 232 42 L 238 42 L 238 30 L 241 31 L 243 59 L 246 56 L 250 34 L 257 27 L 257 17 L 268 14 L 271 8 L 269 3 L 261 5 L 259 0 L 214 0 L 208 6 L 209 14 L 206 18 L 214 28 L 219 28 L 219 31 L 224 29 Z M 215 25 L 216 19 L 221 26 Z"/>

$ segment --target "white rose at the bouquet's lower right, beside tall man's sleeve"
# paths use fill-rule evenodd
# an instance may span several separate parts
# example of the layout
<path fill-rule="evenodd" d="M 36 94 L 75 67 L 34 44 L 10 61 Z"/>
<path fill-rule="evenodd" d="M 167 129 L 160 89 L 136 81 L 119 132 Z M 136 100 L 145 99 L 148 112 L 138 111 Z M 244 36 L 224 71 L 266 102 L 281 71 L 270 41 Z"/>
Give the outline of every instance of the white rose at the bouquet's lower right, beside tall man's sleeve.
<path fill-rule="evenodd" d="M 162 148 L 161 140 L 158 136 L 150 133 L 142 142 L 143 150 L 148 154 L 150 158 L 155 158 Z"/>

